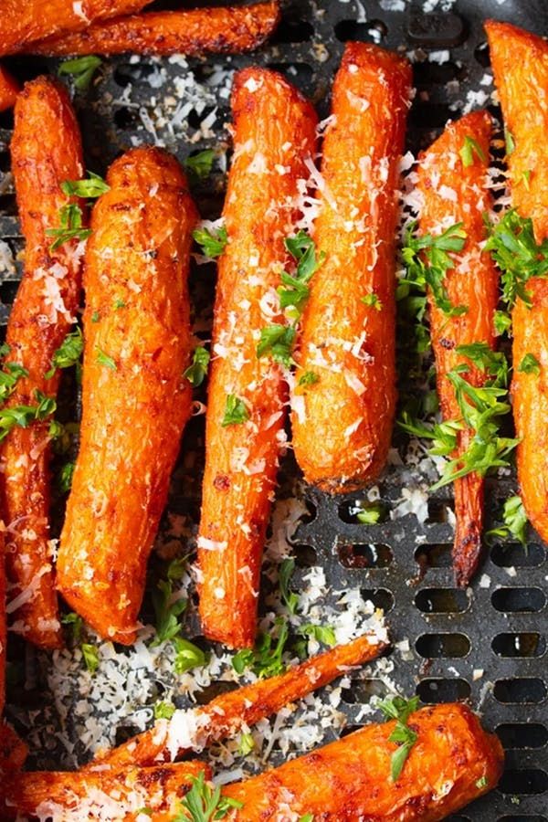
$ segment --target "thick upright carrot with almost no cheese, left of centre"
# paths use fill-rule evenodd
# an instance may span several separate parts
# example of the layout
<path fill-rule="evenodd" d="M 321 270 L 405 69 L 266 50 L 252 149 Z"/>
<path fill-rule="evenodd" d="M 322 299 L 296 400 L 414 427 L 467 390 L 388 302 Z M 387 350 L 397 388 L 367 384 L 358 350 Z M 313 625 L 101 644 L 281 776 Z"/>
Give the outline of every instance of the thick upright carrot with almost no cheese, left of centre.
<path fill-rule="evenodd" d="M 179 163 L 112 164 L 86 251 L 79 456 L 58 588 L 102 637 L 134 641 L 151 551 L 191 408 L 187 273 L 197 214 Z"/>

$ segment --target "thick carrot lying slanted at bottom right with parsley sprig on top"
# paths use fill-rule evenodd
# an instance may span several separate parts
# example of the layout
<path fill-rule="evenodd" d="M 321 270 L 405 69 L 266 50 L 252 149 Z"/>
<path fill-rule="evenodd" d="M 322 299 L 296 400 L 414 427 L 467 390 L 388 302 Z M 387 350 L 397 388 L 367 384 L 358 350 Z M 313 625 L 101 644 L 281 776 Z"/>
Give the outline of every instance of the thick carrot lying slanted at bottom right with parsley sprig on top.
<path fill-rule="evenodd" d="M 243 803 L 237 822 L 268 822 L 279 807 L 295 819 L 310 814 L 327 820 L 437 822 L 499 781 L 504 755 L 494 734 L 462 704 L 437 705 L 412 713 L 416 732 L 401 775 L 391 780 L 396 745 L 388 737 L 395 722 L 362 730 L 311 754 L 223 788 L 223 796 Z M 289 808 L 288 808 L 289 809 Z"/>

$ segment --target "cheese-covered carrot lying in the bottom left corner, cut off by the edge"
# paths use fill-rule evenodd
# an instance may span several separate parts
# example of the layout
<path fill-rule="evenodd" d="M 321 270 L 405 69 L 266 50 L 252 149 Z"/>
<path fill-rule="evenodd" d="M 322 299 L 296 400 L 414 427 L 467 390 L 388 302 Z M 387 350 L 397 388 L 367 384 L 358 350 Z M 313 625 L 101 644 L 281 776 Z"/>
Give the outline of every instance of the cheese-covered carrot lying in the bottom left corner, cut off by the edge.
<path fill-rule="evenodd" d="M 142 819 L 144 809 L 156 822 L 173 820 L 181 800 L 200 774 L 210 778 L 203 762 L 164 764 L 153 768 L 88 767 L 80 771 L 36 771 L 10 775 L 2 785 L 4 819 Z"/>

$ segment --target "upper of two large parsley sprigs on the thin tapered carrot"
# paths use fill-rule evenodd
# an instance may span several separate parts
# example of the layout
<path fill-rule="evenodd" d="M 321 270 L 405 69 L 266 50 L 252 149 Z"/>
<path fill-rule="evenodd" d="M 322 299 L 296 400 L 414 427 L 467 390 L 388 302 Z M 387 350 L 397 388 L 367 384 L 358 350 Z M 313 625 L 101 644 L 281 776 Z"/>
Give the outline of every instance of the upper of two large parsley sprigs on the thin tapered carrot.
<path fill-rule="evenodd" d="M 466 232 L 462 228 L 462 223 L 446 228 L 436 237 L 431 234 L 416 236 L 415 229 L 416 222 L 406 228 L 404 248 L 402 248 L 406 277 L 400 280 L 400 295 L 404 283 L 413 285 L 424 293 L 429 288 L 437 308 L 448 317 L 457 317 L 466 313 L 468 311 L 466 306 L 451 304 L 444 284 L 448 270 L 455 268 L 455 263 L 448 252 L 462 251 L 466 242 Z"/>

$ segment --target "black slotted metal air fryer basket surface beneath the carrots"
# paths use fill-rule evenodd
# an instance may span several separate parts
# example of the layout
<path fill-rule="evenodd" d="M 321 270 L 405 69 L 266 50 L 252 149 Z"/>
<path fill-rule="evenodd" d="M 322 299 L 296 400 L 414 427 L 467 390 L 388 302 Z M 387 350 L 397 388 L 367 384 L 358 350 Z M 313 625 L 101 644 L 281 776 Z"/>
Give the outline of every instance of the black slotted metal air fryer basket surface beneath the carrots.
<path fill-rule="evenodd" d="M 489 71 L 482 20 L 493 16 L 548 34 L 544 0 L 457 0 L 453 5 L 440 0 L 425 5 L 437 9 L 425 15 L 423 3 L 404 0 L 290 2 L 284 6 L 276 37 L 257 54 L 189 61 L 195 78 L 208 90 L 210 106 L 209 110 L 191 111 L 175 129 L 162 119 L 164 103 L 153 100 L 159 94 L 150 79 L 154 72 L 165 72 L 162 96 L 172 87 L 176 96 L 181 65 L 167 59 L 108 60 L 89 96 L 77 99 L 90 167 L 103 171 L 123 148 L 150 140 L 147 123 L 149 128 L 153 124 L 155 139 L 182 159 L 227 140 L 229 112 L 223 91 L 227 87 L 224 81 L 216 82 L 214 63 L 227 71 L 252 62 L 278 68 L 311 97 L 321 116 L 326 116 L 332 77 L 347 39 L 414 50 L 417 95 L 408 142 L 416 152 L 449 117 L 458 116 L 469 90 L 478 95 L 472 103 L 481 102 L 482 89 L 489 95 L 490 87 L 481 84 Z M 450 10 L 444 10 L 448 6 Z M 441 63 L 428 59 L 432 52 L 446 49 L 448 60 L 444 55 L 439 56 Z M 13 66 L 19 74 L 32 76 L 43 68 L 52 70 L 56 63 L 27 59 L 14 60 Z M 124 89 L 130 80 L 132 93 L 128 98 Z M 110 97 L 105 100 L 105 95 Z M 200 121 L 215 109 L 211 133 L 200 132 Z M 9 117 L 0 120 L 0 126 L 0 237 L 17 253 L 21 240 L 6 153 Z M 218 215 L 222 185 L 222 174 L 216 174 L 213 181 L 198 187 L 196 198 L 204 216 Z M 0 284 L 3 323 L 19 273 L 17 269 L 4 274 Z M 205 278 L 205 289 L 195 287 L 199 302 L 211 300 L 210 280 L 208 287 Z M 199 446 L 201 425 L 201 421 L 194 421 L 188 435 Z M 190 478 L 186 487 L 191 489 L 191 498 L 174 497 L 170 510 L 185 511 L 196 518 L 199 472 L 199 460 L 184 469 Z M 285 479 L 294 475 L 290 459 L 282 472 Z M 380 483 L 388 509 L 401 498 L 404 485 L 402 469 L 389 469 Z M 511 479 L 488 483 L 487 528 L 514 487 Z M 453 529 L 448 494 L 446 491 L 430 499 L 429 516 L 422 525 L 413 514 L 407 514 L 364 526 L 355 518 L 355 494 L 328 498 L 315 490 L 305 491 L 311 516 L 296 535 L 297 583 L 307 565 L 318 563 L 325 568 L 333 588 L 359 585 L 364 596 L 385 608 L 395 643 L 409 640 L 409 659 L 398 656 L 392 675 L 398 687 L 407 694 L 416 691 L 425 702 L 467 700 L 481 712 L 486 726 L 499 733 L 507 752 L 501 785 L 455 818 L 536 822 L 548 818 L 546 550 L 534 535 L 527 552 L 521 545 L 497 544 L 471 589 L 457 590 L 450 569 Z M 489 577 L 487 581 L 484 577 L 484 585 L 479 583 L 482 574 Z M 350 724 L 360 702 L 379 692 L 383 692 L 380 680 L 360 680 L 343 695 Z"/>

